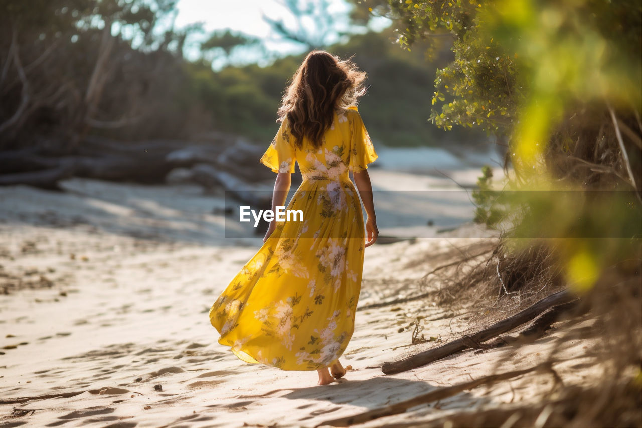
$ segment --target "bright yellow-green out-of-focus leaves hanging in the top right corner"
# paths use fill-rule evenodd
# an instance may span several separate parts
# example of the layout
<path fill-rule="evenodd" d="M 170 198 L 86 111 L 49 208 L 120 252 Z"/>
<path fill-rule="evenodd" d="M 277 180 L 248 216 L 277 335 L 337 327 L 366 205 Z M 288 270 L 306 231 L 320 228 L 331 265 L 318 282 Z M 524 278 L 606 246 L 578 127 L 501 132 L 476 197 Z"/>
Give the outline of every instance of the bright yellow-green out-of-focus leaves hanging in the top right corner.
<path fill-rule="evenodd" d="M 625 111 L 625 116 L 639 116 L 639 1 L 498 1 L 481 16 L 485 32 L 521 58 L 525 100 L 511 150 L 520 174 L 539 174 L 535 164 L 548 150 L 556 127 L 589 104 L 594 117 L 575 122 L 573 128 L 590 127 L 611 107 Z M 557 152 L 562 147 L 550 149 Z"/>

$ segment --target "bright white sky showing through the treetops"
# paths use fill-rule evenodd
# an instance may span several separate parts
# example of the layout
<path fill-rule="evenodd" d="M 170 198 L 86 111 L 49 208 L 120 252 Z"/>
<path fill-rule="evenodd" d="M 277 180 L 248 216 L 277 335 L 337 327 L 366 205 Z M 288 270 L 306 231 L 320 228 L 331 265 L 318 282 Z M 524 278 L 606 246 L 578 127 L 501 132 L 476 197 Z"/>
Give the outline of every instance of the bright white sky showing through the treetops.
<path fill-rule="evenodd" d="M 347 13 L 351 5 L 343 0 L 329 0 L 329 4 L 327 13 L 336 15 L 336 28 L 348 30 Z M 293 15 L 281 0 L 178 0 L 177 8 L 178 15 L 175 24 L 179 28 L 187 24 L 203 22 L 207 32 L 229 29 L 261 39 L 268 53 L 259 49 L 239 51 L 234 58 L 239 63 L 257 62 L 263 66 L 271 62 L 275 56 L 302 53 L 305 49 L 300 44 L 280 39 L 272 31 L 270 24 L 263 19 L 265 13 L 272 19 L 282 19 L 286 26 L 296 25 Z M 313 22 L 308 24 L 313 28 Z M 377 17 L 371 22 L 370 28 L 381 30 L 389 24 L 388 19 Z M 337 35 L 329 35 L 328 40 L 336 42 L 339 39 Z M 188 58 L 196 55 L 196 49 L 192 53 L 188 49 Z M 218 68 L 224 63 L 223 60 L 214 60 L 213 67 Z"/>

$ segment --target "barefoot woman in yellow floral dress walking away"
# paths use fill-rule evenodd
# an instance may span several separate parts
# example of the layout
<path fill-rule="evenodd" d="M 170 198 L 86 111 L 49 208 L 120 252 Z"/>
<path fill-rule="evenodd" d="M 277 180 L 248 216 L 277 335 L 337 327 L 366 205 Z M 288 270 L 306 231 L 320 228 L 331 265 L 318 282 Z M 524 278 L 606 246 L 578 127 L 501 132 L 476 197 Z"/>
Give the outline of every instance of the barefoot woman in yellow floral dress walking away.
<path fill-rule="evenodd" d="M 299 163 L 303 183 L 287 209 L 304 219 L 272 221 L 263 247 L 209 312 L 219 343 L 241 360 L 318 370 L 319 385 L 345 374 L 338 359 L 354 331 L 363 249 L 379 234 L 366 170 L 377 154 L 356 111 L 365 76 L 325 51 L 309 53 L 297 70 L 261 163 L 278 173 L 272 211 L 284 204 Z M 367 242 L 349 171 L 368 216 Z"/>

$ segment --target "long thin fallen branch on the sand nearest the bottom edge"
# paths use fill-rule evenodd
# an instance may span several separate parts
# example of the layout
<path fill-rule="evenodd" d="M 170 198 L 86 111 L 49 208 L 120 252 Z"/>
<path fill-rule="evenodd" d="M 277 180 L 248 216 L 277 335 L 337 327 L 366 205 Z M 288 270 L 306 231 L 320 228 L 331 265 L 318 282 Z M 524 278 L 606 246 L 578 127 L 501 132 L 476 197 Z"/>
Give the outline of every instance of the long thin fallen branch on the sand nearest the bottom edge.
<path fill-rule="evenodd" d="M 542 368 L 550 368 L 550 363 L 542 363 L 524 370 L 508 371 L 507 373 L 481 377 L 480 379 L 471 380 L 471 382 L 465 382 L 459 385 L 448 386 L 446 388 L 438 388 L 424 395 L 420 395 L 419 397 L 411 398 L 410 400 L 406 400 L 397 404 L 392 404 L 391 406 L 367 411 L 354 416 L 348 416 L 346 418 L 328 420 L 322 422 L 317 426 L 330 425 L 331 427 L 348 427 L 355 424 L 364 424 L 365 422 L 383 418 L 385 416 L 399 415 L 400 413 L 405 413 L 406 410 L 410 409 L 411 407 L 419 406 L 421 404 L 428 404 L 430 402 L 435 402 L 438 400 L 445 400 L 446 398 L 453 397 L 459 393 L 466 391 L 467 389 L 473 389 L 477 388 L 478 386 L 492 384 L 494 382 L 499 382 L 500 380 L 512 379 L 514 377 L 525 375 L 526 373 L 540 370 Z"/>

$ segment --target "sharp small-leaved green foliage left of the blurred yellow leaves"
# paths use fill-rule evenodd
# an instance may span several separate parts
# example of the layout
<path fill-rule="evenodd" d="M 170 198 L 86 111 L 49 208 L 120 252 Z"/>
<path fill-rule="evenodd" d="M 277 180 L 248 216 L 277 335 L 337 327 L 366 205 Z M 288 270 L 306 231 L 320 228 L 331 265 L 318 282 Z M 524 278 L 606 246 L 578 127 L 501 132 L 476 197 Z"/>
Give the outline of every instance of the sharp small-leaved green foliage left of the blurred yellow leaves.
<path fill-rule="evenodd" d="M 489 4 L 489 2 L 484 2 Z M 428 40 L 429 53 L 453 39 L 455 60 L 437 70 L 430 120 L 444 130 L 477 127 L 505 137 L 523 100 L 516 55 L 480 31 L 478 1 L 390 1 L 404 24 L 398 43 L 405 49 Z"/>

